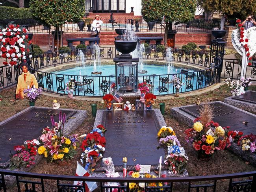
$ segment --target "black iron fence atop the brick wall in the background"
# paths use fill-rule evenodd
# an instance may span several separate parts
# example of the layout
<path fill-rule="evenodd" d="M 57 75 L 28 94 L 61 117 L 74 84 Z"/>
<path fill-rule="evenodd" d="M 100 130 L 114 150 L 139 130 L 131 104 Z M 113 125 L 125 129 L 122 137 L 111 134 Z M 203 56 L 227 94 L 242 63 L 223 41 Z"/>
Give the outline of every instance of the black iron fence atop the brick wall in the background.
<path fill-rule="evenodd" d="M 158 32 L 164 33 L 164 23 L 156 22 L 152 30 L 149 30 L 147 22 L 142 19 L 139 19 L 137 24 L 134 19 L 102 19 L 103 25 L 101 26 L 102 31 L 115 31 L 116 28 L 126 28 L 127 24 L 132 25 L 134 31 L 137 29 L 140 32 Z M 11 20 L 0 20 L 0 26 L 7 26 L 9 22 L 14 24 L 19 24 L 28 29 L 30 33 L 48 33 L 48 29 L 51 31 L 55 30 L 53 26 L 44 26 L 40 21 L 35 19 L 11 19 Z M 220 27 L 219 19 L 193 19 L 188 23 L 182 22 L 173 22 L 173 30 L 177 30 L 177 32 L 186 32 L 186 33 L 196 33 L 196 32 L 211 32 L 211 29 L 214 27 Z M 90 27 L 89 27 L 90 28 Z M 89 33 L 87 24 L 81 31 L 78 27 L 77 23 L 66 22 L 63 25 L 64 33 Z"/>

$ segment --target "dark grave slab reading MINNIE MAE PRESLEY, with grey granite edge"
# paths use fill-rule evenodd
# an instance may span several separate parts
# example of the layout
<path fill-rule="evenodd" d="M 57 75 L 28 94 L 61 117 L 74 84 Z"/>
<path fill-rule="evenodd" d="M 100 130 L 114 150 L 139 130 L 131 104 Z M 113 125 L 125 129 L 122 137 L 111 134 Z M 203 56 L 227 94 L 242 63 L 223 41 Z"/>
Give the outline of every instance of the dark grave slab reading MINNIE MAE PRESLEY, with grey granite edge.
<path fill-rule="evenodd" d="M 51 127 L 50 116 L 54 120 L 59 120 L 59 111 L 67 115 L 68 122 L 65 123 L 65 134 L 71 133 L 76 127 L 82 124 L 86 118 L 86 111 L 72 109 L 58 109 L 46 107 L 28 107 L 20 113 L 4 120 L 0 123 L 0 167 L 5 167 L 9 163 L 9 155 L 15 153 L 13 147 L 22 145 L 25 140 L 38 138 L 42 134 L 43 128 Z M 69 117 L 73 119 L 69 119 Z"/>

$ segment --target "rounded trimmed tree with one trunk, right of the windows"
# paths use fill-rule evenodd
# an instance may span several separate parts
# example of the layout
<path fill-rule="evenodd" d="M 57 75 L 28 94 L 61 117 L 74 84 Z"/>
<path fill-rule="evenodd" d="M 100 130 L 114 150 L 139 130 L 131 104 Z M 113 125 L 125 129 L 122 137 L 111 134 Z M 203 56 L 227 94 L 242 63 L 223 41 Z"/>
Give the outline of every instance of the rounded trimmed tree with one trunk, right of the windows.
<path fill-rule="evenodd" d="M 145 21 L 164 21 L 164 44 L 174 21 L 186 23 L 195 17 L 196 0 L 142 0 L 141 13 Z"/>

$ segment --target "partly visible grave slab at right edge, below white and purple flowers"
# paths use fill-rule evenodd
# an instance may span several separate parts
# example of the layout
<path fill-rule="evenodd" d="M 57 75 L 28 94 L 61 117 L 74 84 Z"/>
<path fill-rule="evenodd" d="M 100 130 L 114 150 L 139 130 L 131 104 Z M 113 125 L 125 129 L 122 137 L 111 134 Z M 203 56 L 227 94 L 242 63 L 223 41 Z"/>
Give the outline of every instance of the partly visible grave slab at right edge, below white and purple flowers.
<path fill-rule="evenodd" d="M 245 94 L 225 98 L 224 102 L 245 111 L 256 113 L 256 91 L 247 90 Z"/>

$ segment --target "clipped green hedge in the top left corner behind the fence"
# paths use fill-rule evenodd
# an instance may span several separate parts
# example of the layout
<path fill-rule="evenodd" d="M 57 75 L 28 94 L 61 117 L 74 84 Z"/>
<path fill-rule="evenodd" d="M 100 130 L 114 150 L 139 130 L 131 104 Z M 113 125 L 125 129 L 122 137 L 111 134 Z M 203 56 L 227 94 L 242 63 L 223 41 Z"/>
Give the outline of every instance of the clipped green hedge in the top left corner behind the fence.
<path fill-rule="evenodd" d="M 26 19 L 33 18 L 32 12 L 28 8 L 15 8 L 0 6 L 1 19 Z M 15 23 L 19 24 L 19 23 Z"/>

